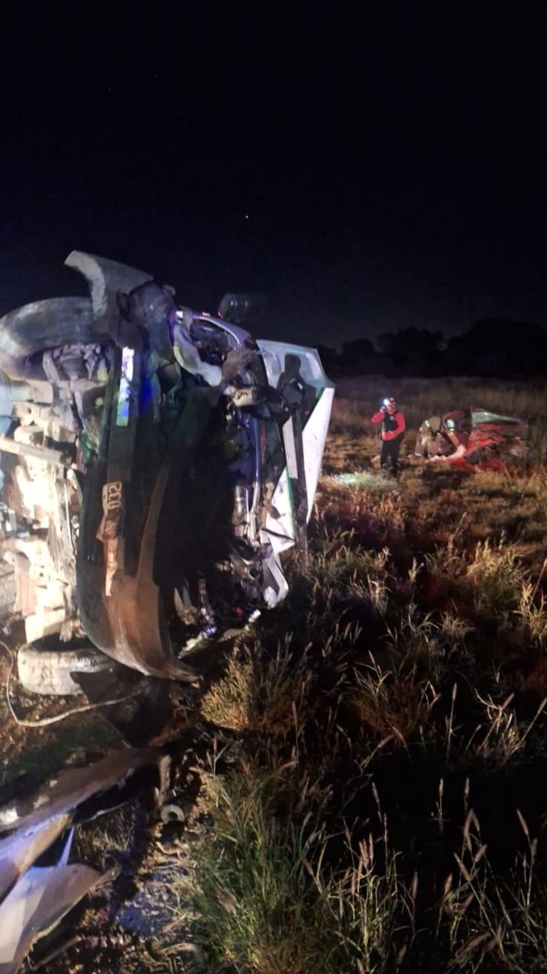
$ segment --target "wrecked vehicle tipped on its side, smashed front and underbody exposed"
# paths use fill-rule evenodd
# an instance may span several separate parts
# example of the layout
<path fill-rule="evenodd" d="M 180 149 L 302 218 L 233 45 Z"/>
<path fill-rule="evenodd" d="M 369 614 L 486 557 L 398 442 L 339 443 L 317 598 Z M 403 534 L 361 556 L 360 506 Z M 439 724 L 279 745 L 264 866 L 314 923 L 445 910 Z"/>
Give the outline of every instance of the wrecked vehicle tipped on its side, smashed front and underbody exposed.
<path fill-rule="evenodd" d="M 233 300 L 213 318 L 125 265 L 66 264 L 91 297 L 0 320 L 15 609 L 27 643 L 194 680 L 185 650 L 277 605 L 285 550 L 305 561 L 334 389 L 314 350 L 229 320 Z"/>

